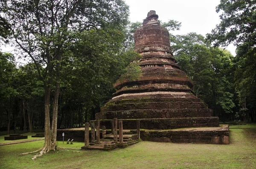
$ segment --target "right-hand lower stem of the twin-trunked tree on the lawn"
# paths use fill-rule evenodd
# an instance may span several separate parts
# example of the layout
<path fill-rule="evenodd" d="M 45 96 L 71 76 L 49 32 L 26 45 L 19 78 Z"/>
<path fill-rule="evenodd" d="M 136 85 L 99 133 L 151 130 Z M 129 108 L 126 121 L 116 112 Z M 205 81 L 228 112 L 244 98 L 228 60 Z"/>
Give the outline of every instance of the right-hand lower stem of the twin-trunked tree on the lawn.
<path fill-rule="evenodd" d="M 52 109 L 52 130 L 51 130 L 51 138 L 52 138 L 52 146 L 56 146 L 57 139 L 57 120 L 58 120 L 58 96 L 60 93 L 60 83 L 56 84 L 54 98 L 53 98 L 53 109 Z"/>

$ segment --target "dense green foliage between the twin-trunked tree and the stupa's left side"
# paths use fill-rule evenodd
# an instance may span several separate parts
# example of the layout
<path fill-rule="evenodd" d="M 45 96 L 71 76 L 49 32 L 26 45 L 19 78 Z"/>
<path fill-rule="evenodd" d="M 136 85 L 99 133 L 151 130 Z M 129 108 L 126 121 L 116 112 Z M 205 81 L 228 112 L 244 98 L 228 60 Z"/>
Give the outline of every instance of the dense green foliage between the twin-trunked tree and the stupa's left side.
<path fill-rule="evenodd" d="M 62 111 L 65 117 L 71 113 L 77 119 L 78 115 L 83 123 L 83 116 L 86 121 L 94 119 L 100 107 L 111 99 L 113 83 L 137 54 L 122 52 L 124 34 L 119 29 L 88 30 L 73 36 L 76 41 L 71 42 L 61 61 Z"/>

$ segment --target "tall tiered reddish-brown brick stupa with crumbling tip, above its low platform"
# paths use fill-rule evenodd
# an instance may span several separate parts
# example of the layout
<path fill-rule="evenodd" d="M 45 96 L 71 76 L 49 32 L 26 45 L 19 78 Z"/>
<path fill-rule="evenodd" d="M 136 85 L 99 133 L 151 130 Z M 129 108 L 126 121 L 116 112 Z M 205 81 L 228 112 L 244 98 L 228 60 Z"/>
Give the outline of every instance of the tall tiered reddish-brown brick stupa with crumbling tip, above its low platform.
<path fill-rule="evenodd" d="M 116 93 L 96 114 L 109 126 L 113 118 L 123 120 L 124 129 L 177 129 L 217 127 L 207 104 L 195 97 L 193 82 L 173 57 L 169 32 L 161 27 L 155 11 L 148 12 L 143 26 L 134 33 L 141 75 L 137 80 L 117 80 Z"/>

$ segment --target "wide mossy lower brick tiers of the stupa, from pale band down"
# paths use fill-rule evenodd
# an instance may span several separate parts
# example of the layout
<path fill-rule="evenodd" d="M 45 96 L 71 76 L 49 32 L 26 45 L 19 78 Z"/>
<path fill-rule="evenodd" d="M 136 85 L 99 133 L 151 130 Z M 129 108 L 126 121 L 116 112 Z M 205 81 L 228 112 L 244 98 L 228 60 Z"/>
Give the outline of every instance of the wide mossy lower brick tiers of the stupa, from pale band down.
<path fill-rule="evenodd" d="M 102 112 L 96 114 L 102 125 L 110 127 L 111 120 L 123 120 L 123 129 L 178 129 L 187 127 L 216 127 L 218 117 L 199 98 L 186 92 L 145 92 L 113 97 Z"/>

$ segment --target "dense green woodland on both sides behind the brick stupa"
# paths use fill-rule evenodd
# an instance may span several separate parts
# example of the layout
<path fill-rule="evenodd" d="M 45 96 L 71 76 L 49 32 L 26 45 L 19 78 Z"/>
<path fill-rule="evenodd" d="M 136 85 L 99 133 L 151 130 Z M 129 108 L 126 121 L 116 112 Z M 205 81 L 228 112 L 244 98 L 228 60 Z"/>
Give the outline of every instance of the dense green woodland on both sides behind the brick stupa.
<path fill-rule="evenodd" d="M 195 95 L 223 122 L 256 121 L 256 1 L 221 0 L 221 23 L 204 37 L 173 35 L 181 23 L 162 23 L 172 52 L 194 82 Z M 82 127 L 112 97 L 113 83 L 136 78 L 133 33 L 122 0 L 2 0 L 0 129 Z M 224 48 L 234 43 L 236 56 Z M 19 60 L 27 60 L 18 66 Z M 52 112 L 52 113 L 50 113 Z M 56 124 L 55 124 L 56 123 Z M 54 136 L 52 136 L 54 137 Z"/>

